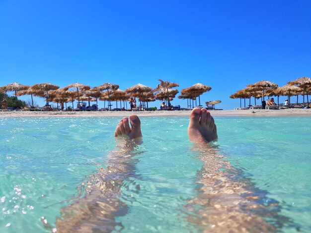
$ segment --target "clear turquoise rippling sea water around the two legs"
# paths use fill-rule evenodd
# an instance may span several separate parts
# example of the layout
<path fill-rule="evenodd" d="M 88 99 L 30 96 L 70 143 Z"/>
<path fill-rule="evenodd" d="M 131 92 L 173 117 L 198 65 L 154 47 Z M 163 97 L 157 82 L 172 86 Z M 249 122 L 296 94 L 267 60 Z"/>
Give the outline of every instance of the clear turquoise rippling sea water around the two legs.
<path fill-rule="evenodd" d="M 0 232 L 51 232 L 79 185 L 106 168 L 118 119 L 0 118 Z M 260 196 L 261 217 L 280 232 L 310 232 L 310 117 L 215 119 L 216 150 Z M 118 194 L 126 208 L 114 217 L 115 231 L 201 232 L 187 207 L 199 195 L 204 166 L 187 139 L 188 118 L 141 121 L 143 144 L 127 161 L 132 171 Z"/>

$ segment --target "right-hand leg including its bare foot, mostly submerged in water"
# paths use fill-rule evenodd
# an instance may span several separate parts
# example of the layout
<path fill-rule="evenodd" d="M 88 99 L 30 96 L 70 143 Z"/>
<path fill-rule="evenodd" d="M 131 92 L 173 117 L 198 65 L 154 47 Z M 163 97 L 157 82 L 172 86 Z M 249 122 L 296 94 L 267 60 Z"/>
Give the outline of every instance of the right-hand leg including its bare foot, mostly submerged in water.
<path fill-rule="evenodd" d="M 199 194 L 187 204 L 198 217 L 190 215 L 189 221 L 202 226 L 203 232 L 274 232 L 259 216 L 265 210 L 256 202 L 260 196 L 235 179 L 237 171 L 208 144 L 218 138 L 214 118 L 200 108 L 193 109 L 189 118 L 188 137 L 203 162 L 198 173 Z"/>

